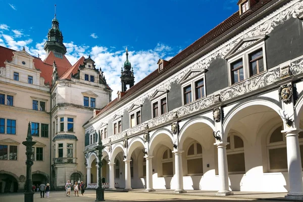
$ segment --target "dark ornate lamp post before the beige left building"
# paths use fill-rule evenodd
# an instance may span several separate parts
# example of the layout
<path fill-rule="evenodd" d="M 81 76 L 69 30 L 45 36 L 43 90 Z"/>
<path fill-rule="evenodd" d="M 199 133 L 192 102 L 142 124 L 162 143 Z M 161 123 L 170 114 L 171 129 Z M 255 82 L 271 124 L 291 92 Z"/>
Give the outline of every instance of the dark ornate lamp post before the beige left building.
<path fill-rule="evenodd" d="M 26 146 L 26 190 L 24 193 L 24 202 L 32 202 L 34 201 L 34 192 L 32 191 L 32 180 L 31 180 L 31 167 L 34 164 L 32 160 L 32 146 L 36 142 L 33 141 L 33 138 L 31 136 L 30 132 L 30 123 L 28 123 L 28 129 L 27 129 L 27 137 L 26 141 L 23 141 L 22 144 Z"/>

